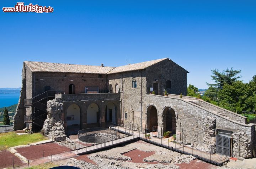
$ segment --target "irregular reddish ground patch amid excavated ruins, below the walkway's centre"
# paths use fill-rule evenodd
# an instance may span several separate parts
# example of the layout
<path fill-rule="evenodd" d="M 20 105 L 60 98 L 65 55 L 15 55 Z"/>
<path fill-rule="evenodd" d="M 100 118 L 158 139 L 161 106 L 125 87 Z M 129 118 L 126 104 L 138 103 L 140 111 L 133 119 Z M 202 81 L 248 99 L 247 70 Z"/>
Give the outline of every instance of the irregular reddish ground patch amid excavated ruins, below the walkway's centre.
<path fill-rule="evenodd" d="M 150 152 L 145 152 L 142 150 L 132 150 L 129 151 L 127 153 L 124 153 L 124 156 L 130 157 L 132 160 L 130 162 L 133 163 L 148 163 L 148 164 L 158 164 L 159 162 L 144 162 L 143 159 L 149 156 L 152 156 L 153 154 L 155 154 L 154 151 L 150 151 Z"/>

